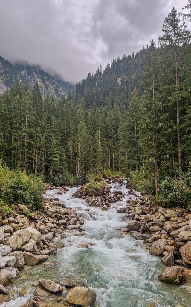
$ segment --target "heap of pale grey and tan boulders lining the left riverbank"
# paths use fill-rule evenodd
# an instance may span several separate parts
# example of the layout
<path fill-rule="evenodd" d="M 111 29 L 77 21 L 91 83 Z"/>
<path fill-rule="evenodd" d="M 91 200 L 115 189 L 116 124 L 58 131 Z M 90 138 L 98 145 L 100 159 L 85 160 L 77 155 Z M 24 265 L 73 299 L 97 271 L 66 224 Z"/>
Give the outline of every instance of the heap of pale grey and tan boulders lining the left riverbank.
<path fill-rule="evenodd" d="M 58 189 L 59 194 L 62 192 L 65 191 Z M 79 229 L 83 223 L 75 210 L 66 208 L 55 197 L 43 199 L 43 209 L 38 216 L 18 204 L 17 212 L 3 217 L 0 224 L 0 304 L 9 298 L 5 286 L 18 278 L 24 265 L 37 265 L 49 255 L 56 255 L 57 249 L 64 247 L 59 239 L 66 237 L 64 230 Z M 55 237 L 58 240 L 52 243 Z"/>

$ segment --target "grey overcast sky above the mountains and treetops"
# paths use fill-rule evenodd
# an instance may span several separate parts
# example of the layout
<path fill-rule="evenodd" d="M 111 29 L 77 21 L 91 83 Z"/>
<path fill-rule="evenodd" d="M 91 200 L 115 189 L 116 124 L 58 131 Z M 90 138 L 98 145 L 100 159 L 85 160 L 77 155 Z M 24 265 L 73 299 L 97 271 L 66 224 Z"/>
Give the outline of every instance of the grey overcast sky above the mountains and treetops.
<path fill-rule="evenodd" d="M 76 82 L 117 56 L 136 53 L 187 0 L 0 0 L 0 55 Z"/>

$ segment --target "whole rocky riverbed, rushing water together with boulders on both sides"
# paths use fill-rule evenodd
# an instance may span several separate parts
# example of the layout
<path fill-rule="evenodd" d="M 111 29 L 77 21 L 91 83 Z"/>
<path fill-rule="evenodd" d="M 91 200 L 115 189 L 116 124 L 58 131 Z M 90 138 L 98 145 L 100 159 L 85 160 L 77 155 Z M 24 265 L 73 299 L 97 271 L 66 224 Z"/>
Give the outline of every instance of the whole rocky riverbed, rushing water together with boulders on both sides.
<path fill-rule="evenodd" d="M 5 219 L 0 227 L 1 250 L 12 248 L 7 255 L 6 252 L 2 255 L 0 277 L 6 288 L 2 285 L 0 289 L 1 306 L 187 307 L 191 304 L 190 270 L 175 266 L 176 261 L 183 258 L 180 251 L 174 253 L 171 232 L 163 229 L 164 225 L 155 224 L 161 221 L 160 209 L 153 208 L 146 196 L 126 188 L 121 178 L 96 195 L 87 193 L 84 187 L 55 189 L 47 186 L 39 216 L 24 217 L 21 210 L 24 211 L 18 207 L 17 215 L 10 216 L 8 222 Z M 189 212 L 179 214 L 185 213 L 189 215 Z M 166 214 L 169 213 L 162 213 L 166 219 L 162 222 L 174 222 L 171 217 L 165 217 Z M 184 215 L 185 221 L 187 215 Z M 162 229 L 149 229 L 152 226 Z M 167 233 L 168 238 L 163 238 Z M 141 237 L 144 235 L 147 237 Z M 157 239 L 149 242 L 153 236 Z M 11 239 L 14 237 L 21 240 Z M 167 244 L 159 244 L 159 241 L 155 246 L 158 240 L 166 240 Z M 172 260 L 172 247 L 173 266 L 164 272 L 166 266 L 161 257 L 155 256 L 155 251 L 163 250 L 159 255 Z M 159 281 L 158 276 L 165 283 Z"/>

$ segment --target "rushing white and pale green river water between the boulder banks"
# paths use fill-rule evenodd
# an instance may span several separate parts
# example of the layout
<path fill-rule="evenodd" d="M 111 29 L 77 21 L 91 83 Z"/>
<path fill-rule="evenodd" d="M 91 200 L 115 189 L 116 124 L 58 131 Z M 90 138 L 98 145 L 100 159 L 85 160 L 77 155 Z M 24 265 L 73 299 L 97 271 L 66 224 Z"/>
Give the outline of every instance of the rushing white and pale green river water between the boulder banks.
<path fill-rule="evenodd" d="M 116 190 L 111 184 L 112 191 Z M 67 207 L 77 211 L 84 218 L 86 230 L 84 236 L 73 236 L 76 231 L 66 231 L 66 239 L 62 239 L 65 247 L 58 251 L 57 265 L 52 270 L 44 270 L 42 265 L 26 266 L 20 271 L 20 278 L 10 286 L 18 293 L 20 286 L 27 287 L 28 294 L 4 303 L 1 306 L 18 307 L 32 297 L 32 281 L 35 278 L 47 278 L 54 281 L 61 279 L 81 279 L 97 294 L 96 307 L 189 307 L 191 306 L 191 287 L 165 284 L 159 282 L 158 275 L 166 267 L 161 258 L 150 255 L 140 240 L 130 235 L 121 235 L 125 223 L 125 215 L 117 213 L 117 208 L 126 206 L 129 196 L 115 203 L 109 211 L 87 207 L 87 203 L 72 195 L 77 188 L 69 188 L 62 195 L 56 195 Z M 125 185 L 119 188 L 125 194 Z M 48 191 L 54 195 L 58 190 Z M 133 198 L 133 196 L 130 196 Z M 90 214 L 85 211 L 90 208 Z M 89 243 L 88 248 L 77 248 L 78 244 Z M 33 288 L 34 290 L 34 288 Z M 66 296 L 66 293 L 63 293 Z M 157 302 L 157 305 L 153 304 Z"/>

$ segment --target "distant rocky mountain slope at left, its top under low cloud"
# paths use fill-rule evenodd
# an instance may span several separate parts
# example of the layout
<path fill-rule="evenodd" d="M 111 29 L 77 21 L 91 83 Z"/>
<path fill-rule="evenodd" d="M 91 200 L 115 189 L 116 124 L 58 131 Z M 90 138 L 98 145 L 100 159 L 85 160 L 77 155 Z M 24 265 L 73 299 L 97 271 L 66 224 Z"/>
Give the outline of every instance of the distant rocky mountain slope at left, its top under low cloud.
<path fill-rule="evenodd" d="M 59 98 L 73 90 L 72 84 L 61 76 L 47 73 L 39 65 L 29 65 L 25 61 L 12 64 L 0 56 L 0 94 L 6 91 L 7 87 L 11 88 L 17 79 L 21 85 L 27 84 L 31 89 L 38 82 L 43 97 L 49 94 Z"/>

